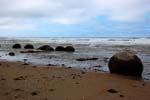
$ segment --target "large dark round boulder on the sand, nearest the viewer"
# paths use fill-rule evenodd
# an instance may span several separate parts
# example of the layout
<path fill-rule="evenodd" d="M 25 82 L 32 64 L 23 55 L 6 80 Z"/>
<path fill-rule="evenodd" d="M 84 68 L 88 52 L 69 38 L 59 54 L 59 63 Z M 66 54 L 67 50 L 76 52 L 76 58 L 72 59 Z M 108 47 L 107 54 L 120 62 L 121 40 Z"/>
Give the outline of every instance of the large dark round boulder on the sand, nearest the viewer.
<path fill-rule="evenodd" d="M 133 52 L 119 52 L 110 58 L 108 64 L 111 73 L 141 77 L 143 64 Z"/>

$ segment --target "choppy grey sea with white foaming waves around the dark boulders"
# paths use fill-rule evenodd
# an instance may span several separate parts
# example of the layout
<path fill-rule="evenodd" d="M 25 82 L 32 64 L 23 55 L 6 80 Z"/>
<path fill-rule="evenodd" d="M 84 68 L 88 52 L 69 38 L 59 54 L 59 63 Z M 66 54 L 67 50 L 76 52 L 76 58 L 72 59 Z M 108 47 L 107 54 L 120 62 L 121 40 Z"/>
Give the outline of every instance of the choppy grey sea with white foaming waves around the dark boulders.
<path fill-rule="evenodd" d="M 121 50 L 132 50 L 140 57 L 144 64 L 143 77 L 150 79 L 150 39 L 148 38 L 1 38 L 0 43 L 0 60 L 24 61 L 24 59 L 27 59 L 27 62 L 32 64 L 66 65 L 107 72 L 109 72 L 107 67 L 108 60 L 113 54 Z M 15 43 L 20 43 L 22 46 L 30 43 L 35 48 L 45 44 L 51 45 L 54 48 L 59 45 L 73 45 L 76 51 L 74 53 L 45 52 L 21 54 L 20 50 L 11 48 Z M 10 51 L 15 52 L 16 55 L 9 56 L 8 53 Z M 96 57 L 98 60 L 76 61 L 77 58 L 92 57 Z"/>

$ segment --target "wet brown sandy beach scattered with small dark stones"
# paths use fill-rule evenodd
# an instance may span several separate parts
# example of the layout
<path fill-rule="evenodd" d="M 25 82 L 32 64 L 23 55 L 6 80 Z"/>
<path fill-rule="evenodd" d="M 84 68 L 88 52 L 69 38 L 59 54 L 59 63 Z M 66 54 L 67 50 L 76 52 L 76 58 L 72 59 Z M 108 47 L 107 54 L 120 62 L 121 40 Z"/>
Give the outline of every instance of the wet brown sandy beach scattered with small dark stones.
<path fill-rule="evenodd" d="M 71 67 L 0 62 L 0 100 L 149 100 L 150 81 Z"/>

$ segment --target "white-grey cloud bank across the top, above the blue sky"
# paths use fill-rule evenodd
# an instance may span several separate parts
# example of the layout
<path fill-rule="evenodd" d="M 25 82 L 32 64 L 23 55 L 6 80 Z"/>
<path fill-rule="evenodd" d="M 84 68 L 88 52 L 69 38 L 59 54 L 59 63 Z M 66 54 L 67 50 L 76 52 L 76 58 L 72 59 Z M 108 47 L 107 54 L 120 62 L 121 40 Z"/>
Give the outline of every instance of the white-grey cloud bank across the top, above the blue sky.
<path fill-rule="evenodd" d="M 80 23 L 96 16 L 134 22 L 150 12 L 150 0 L 0 0 L 0 17 L 47 17 L 62 24 Z"/>

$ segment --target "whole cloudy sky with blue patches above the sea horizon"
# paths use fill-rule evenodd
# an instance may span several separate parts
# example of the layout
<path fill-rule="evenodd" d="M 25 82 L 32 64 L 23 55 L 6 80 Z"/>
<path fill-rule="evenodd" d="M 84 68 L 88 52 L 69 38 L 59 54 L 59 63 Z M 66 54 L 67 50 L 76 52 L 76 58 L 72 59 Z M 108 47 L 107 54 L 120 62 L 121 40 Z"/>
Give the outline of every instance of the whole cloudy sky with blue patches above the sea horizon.
<path fill-rule="evenodd" d="M 0 37 L 150 37 L 150 0 L 0 0 Z"/>

